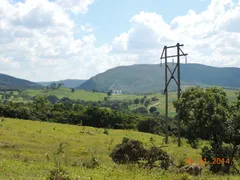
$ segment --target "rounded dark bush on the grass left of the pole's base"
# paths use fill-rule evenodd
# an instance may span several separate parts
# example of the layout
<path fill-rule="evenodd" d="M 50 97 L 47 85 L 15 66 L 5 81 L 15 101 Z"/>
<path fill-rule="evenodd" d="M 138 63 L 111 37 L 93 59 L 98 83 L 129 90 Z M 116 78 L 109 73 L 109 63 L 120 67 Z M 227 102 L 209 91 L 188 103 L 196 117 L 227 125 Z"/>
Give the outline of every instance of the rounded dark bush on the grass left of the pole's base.
<path fill-rule="evenodd" d="M 123 138 L 122 143 L 113 149 L 110 157 L 115 163 L 130 164 L 139 162 L 145 157 L 145 154 L 146 150 L 142 142 Z"/>

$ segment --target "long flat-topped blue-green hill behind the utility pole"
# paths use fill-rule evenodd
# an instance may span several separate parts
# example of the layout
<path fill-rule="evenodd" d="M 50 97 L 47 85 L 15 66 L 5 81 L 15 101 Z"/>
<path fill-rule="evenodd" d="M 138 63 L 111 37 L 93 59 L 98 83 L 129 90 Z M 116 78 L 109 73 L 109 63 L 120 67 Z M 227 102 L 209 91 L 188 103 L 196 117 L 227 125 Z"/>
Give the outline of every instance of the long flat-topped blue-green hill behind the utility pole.
<path fill-rule="evenodd" d="M 173 66 L 170 65 L 171 69 Z M 164 64 L 141 64 L 132 66 L 120 66 L 100 73 L 80 86 L 78 89 L 107 92 L 117 81 L 115 89 L 133 92 L 151 93 L 159 92 L 165 86 Z M 175 74 L 177 75 L 177 74 Z M 170 77 L 170 73 L 168 75 Z M 201 64 L 181 64 L 181 85 L 184 86 L 207 86 L 240 87 L 240 68 L 218 68 Z M 176 90 L 172 81 L 169 90 Z"/>

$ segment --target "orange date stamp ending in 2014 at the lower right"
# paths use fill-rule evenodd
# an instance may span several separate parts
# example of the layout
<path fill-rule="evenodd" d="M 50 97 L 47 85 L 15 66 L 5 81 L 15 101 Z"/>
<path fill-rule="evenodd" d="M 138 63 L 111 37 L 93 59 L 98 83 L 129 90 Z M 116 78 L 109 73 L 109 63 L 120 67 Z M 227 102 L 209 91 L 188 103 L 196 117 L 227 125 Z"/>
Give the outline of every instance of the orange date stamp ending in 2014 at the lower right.
<path fill-rule="evenodd" d="M 211 161 L 207 161 L 207 158 L 199 159 L 197 162 L 192 158 L 187 158 L 185 163 L 188 165 L 199 164 L 199 165 L 208 165 L 208 164 L 230 164 L 229 158 L 212 158 Z"/>

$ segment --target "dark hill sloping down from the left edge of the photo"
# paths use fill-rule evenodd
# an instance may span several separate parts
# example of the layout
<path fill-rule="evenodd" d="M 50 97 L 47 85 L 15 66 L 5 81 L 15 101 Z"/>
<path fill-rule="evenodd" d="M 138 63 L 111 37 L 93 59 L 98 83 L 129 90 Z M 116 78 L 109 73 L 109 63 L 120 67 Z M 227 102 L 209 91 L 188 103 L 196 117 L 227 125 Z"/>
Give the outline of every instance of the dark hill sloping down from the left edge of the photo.
<path fill-rule="evenodd" d="M 0 88 L 39 89 L 43 86 L 24 79 L 0 74 Z"/>

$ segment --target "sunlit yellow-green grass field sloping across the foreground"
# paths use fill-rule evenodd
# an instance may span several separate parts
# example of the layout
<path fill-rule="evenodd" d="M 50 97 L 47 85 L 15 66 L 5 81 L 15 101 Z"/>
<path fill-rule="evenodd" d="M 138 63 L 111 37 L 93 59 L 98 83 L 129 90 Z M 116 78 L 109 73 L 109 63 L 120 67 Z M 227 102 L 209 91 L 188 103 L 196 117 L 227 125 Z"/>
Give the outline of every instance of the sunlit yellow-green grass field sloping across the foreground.
<path fill-rule="evenodd" d="M 66 143 L 64 157 L 61 156 L 62 165 L 73 179 L 238 179 L 235 176 L 212 175 L 207 169 L 198 178 L 177 174 L 174 169 L 149 171 L 134 165 L 115 165 L 109 157 L 123 137 L 140 140 L 144 146 L 150 147 L 150 138 L 157 146 L 163 145 L 162 136 L 130 130 L 109 130 L 107 135 L 103 129 L 92 127 L 8 118 L 0 120 L 0 179 L 4 180 L 46 179 L 54 167 L 54 152 L 60 143 Z M 91 135 L 87 134 L 88 131 Z M 182 144 L 178 147 L 176 138 L 170 137 L 170 143 L 165 147 L 176 163 L 184 154 L 194 160 L 200 158 L 200 149 L 190 148 L 184 140 Z M 90 169 L 81 165 L 91 155 L 99 158 L 99 167 Z"/>

